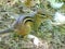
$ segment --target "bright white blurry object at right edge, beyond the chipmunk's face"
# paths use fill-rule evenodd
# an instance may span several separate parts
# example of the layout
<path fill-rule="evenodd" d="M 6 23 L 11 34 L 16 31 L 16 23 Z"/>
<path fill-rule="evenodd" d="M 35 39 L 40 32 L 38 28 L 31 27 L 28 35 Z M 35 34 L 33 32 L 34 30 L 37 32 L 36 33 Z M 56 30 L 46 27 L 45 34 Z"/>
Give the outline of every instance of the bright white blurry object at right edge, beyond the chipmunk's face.
<path fill-rule="evenodd" d="M 65 24 L 65 15 L 60 12 L 55 13 L 54 21 L 56 24 Z"/>

